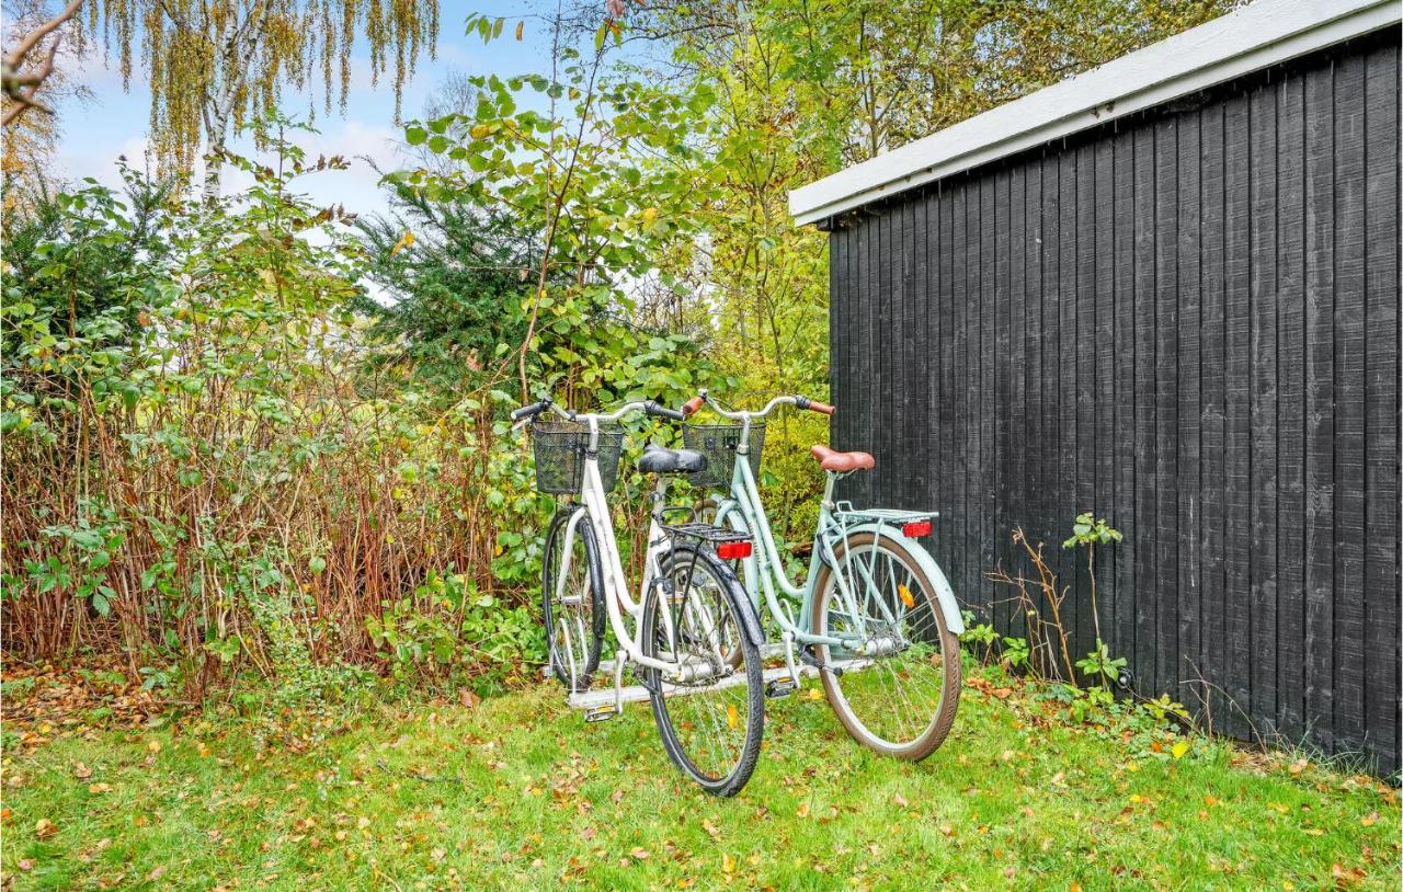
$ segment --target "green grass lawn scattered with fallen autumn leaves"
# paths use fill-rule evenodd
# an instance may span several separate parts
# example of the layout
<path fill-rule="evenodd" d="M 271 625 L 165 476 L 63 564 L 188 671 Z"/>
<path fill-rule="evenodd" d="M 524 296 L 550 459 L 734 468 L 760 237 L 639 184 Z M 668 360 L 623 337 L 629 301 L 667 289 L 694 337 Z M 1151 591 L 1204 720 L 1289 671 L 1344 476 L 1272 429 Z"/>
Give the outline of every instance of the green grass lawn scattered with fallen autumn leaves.
<path fill-rule="evenodd" d="M 300 753 L 251 719 L 39 721 L 7 735 L 4 888 L 1399 888 L 1390 787 L 1204 739 L 1132 757 L 975 684 L 922 764 L 812 686 L 773 703 L 735 799 L 682 780 L 647 704 L 586 727 L 551 687 L 361 711 Z"/>

